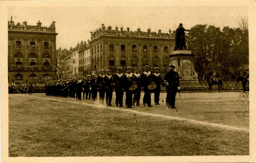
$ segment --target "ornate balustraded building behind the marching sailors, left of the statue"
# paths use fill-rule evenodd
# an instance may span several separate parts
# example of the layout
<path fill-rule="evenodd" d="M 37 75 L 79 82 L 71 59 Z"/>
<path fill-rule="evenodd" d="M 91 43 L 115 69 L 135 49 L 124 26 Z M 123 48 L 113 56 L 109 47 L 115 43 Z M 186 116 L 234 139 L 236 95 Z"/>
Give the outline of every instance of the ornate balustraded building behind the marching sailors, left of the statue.
<path fill-rule="evenodd" d="M 139 67 L 143 71 L 144 66 L 159 67 L 165 72 L 169 67 L 169 55 L 174 51 L 175 38 L 174 34 L 151 32 L 149 28 L 147 32 L 137 31 L 132 32 L 123 30 L 123 27 L 118 30 L 112 30 L 111 26 L 107 29 L 102 24 L 102 28 L 91 32 L 91 69 L 94 67 L 97 70 L 111 69 L 116 71 L 117 67 L 131 66 Z"/>

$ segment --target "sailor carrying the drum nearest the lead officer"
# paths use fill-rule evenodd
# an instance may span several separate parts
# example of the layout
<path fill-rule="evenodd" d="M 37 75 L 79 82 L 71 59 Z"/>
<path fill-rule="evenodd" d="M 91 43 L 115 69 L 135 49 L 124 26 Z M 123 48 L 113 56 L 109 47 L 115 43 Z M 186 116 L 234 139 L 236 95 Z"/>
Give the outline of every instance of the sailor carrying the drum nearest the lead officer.
<path fill-rule="evenodd" d="M 144 87 L 144 97 L 143 97 L 143 106 L 147 106 L 148 107 L 153 107 L 151 105 L 151 95 L 150 95 L 150 91 L 148 90 L 148 86 L 150 84 L 154 84 L 154 81 L 152 79 L 152 73 L 149 71 L 149 66 L 146 65 L 144 66 L 145 72 L 143 72 L 140 75 L 140 82 L 142 84 L 142 87 Z"/>

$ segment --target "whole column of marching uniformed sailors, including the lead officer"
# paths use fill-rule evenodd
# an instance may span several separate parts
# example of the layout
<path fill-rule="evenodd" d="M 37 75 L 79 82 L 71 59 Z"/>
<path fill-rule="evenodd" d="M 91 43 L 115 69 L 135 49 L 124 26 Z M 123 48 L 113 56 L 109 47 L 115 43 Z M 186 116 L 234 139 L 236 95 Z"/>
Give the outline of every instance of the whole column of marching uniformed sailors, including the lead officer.
<path fill-rule="evenodd" d="M 87 75 L 84 80 L 81 76 L 78 79 L 66 79 L 50 81 L 45 85 L 47 96 L 71 97 L 78 100 L 91 99 L 95 101 L 99 92 L 99 105 L 112 106 L 113 91 L 116 92 L 115 104 L 123 107 L 123 96 L 125 92 L 125 107 L 132 108 L 132 105 L 140 106 L 141 88 L 144 90 L 143 106 L 152 107 L 151 94 L 154 93 L 155 105 L 159 105 L 161 85 L 165 87 L 166 105 L 176 109 L 175 97 L 180 91 L 180 80 L 178 73 L 173 71 L 175 66 L 170 64 L 167 73 L 162 79 L 159 68 L 154 68 L 155 73 L 149 71 L 150 67 L 145 66 L 145 72 L 139 74 L 139 68 L 135 68 L 135 73 L 131 73 L 132 68 L 127 67 L 125 74 L 121 73 L 122 68 L 118 67 L 114 75 L 110 75 L 111 70 L 100 70 L 100 75 Z"/>

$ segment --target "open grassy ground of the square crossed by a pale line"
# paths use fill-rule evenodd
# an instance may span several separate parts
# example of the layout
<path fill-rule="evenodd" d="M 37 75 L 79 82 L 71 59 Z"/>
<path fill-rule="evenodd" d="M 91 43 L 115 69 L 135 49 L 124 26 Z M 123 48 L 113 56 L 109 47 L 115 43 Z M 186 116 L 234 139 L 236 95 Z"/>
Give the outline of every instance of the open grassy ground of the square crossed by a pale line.
<path fill-rule="evenodd" d="M 181 93 L 177 109 L 165 102 L 126 109 L 114 106 L 114 94 L 112 107 L 9 94 L 9 156 L 249 155 L 248 95 Z"/>

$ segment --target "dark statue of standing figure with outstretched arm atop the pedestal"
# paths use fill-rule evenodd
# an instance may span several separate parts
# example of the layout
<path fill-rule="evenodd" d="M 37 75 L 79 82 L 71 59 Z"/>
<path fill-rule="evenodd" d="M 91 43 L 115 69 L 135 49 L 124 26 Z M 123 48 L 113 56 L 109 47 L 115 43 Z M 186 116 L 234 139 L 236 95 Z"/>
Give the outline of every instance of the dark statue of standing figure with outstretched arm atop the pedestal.
<path fill-rule="evenodd" d="M 189 30 L 185 30 L 183 25 L 180 23 L 180 26 L 176 29 L 174 50 L 187 50 L 185 42 L 185 31 Z"/>

